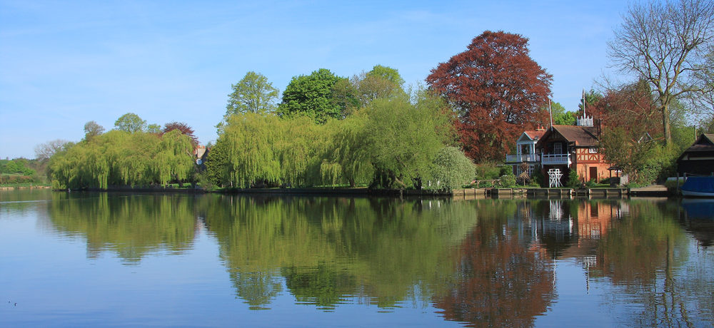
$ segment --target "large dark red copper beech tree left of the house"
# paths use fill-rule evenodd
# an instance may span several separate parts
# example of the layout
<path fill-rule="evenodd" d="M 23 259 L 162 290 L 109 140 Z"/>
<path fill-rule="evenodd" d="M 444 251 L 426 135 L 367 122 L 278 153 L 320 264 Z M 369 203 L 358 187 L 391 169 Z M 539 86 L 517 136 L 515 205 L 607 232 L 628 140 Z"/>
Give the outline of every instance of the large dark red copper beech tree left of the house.
<path fill-rule="evenodd" d="M 464 153 L 476 161 L 503 160 L 524 129 L 546 122 L 552 80 L 528 55 L 528 39 L 503 31 L 476 36 L 426 78 L 456 111 Z"/>

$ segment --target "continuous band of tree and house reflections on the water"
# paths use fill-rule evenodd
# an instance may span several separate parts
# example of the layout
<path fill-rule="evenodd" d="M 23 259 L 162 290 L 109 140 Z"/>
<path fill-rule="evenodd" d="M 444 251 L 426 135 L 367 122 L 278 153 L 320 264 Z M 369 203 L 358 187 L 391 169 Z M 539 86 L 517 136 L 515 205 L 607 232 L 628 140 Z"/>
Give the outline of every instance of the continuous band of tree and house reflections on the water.
<path fill-rule="evenodd" d="M 56 231 L 86 237 L 88 257 L 132 265 L 184 254 L 205 229 L 250 309 L 289 295 L 324 311 L 417 304 L 469 327 L 531 327 L 557 304 L 567 261 L 588 291 L 608 290 L 590 305 L 622 324 L 701 326 L 714 318 L 711 205 L 52 193 L 47 211 Z"/>

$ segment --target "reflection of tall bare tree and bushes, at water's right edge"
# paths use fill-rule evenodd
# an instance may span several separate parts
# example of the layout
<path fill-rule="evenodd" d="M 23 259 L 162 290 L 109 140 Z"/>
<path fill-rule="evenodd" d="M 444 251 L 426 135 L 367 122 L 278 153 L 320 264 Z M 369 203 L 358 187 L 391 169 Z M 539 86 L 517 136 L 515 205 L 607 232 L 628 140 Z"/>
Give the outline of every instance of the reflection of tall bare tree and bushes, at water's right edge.
<path fill-rule="evenodd" d="M 690 259 L 690 248 L 676 217 L 676 203 L 630 203 L 630 215 L 613 221 L 598 246 L 593 273 L 609 277 L 625 300 L 610 295 L 609 302 L 639 304 L 628 322 L 646 326 L 700 327 L 712 323 L 714 283 L 703 273 L 713 272 L 712 257 Z"/>

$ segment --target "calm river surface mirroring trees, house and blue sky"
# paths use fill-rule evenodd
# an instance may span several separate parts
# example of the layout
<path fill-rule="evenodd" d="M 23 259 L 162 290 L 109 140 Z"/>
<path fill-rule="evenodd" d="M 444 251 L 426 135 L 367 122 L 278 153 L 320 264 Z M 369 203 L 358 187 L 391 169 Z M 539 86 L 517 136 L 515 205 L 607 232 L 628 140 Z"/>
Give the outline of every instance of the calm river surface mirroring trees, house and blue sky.
<path fill-rule="evenodd" d="M 712 327 L 714 200 L 0 192 L 0 326 Z"/>

